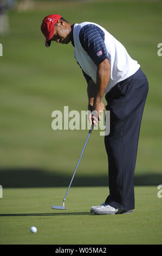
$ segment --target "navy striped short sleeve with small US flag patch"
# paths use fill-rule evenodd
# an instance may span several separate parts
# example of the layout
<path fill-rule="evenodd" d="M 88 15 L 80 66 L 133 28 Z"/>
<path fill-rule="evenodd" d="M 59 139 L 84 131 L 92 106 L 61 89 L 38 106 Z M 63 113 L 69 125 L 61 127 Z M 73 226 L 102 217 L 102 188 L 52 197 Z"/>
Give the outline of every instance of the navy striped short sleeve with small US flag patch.
<path fill-rule="evenodd" d="M 98 66 L 104 59 L 109 59 L 106 45 L 105 33 L 98 26 L 89 24 L 82 27 L 79 39 L 83 49 Z"/>

